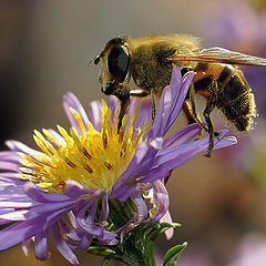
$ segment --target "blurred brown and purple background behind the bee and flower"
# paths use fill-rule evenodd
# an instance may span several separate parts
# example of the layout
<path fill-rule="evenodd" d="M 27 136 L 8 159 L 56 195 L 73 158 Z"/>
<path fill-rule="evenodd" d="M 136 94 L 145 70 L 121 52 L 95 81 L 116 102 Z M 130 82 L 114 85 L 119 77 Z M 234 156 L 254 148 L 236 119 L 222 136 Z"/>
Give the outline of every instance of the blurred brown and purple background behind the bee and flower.
<path fill-rule="evenodd" d="M 266 58 L 266 1 L 213 0 L 3 0 L 0 1 L 0 146 L 16 139 L 34 146 L 33 129 L 69 126 L 62 95 L 74 92 L 84 106 L 103 95 L 99 68 L 88 65 L 111 38 L 192 33 L 219 45 Z M 181 266 L 266 265 L 266 69 L 243 69 L 259 116 L 237 146 L 212 158 L 197 155 L 168 183 L 173 221 L 182 223 L 157 256 L 184 241 Z M 213 115 L 216 129 L 223 116 Z M 180 117 L 177 126 L 184 126 Z M 232 127 L 229 125 L 229 127 Z M 17 246 L 0 253 L 1 265 L 70 265 L 51 245 L 48 262 L 24 257 Z M 78 253 L 81 265 L 101 259 Z M 115 264 L 114 264 L 115 265 Z"/>

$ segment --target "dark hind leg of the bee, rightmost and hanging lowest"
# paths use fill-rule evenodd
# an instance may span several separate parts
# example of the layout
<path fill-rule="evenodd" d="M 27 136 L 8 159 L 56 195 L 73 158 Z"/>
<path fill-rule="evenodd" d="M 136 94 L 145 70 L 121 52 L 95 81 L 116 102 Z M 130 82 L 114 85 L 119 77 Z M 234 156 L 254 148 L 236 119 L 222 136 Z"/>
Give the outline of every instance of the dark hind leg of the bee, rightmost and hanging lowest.
<path fill-rule="evenodd" d="M 208 150 L 205 154 L 206 157 L 211 157 L 211 154 L 212 154 L 212 151 L 213 151 L 213 147 L 214 147 L 214 136 L 218 136 L 218 133 L 214 132 L 213 122 L 212 122 L 212 119 L 209 116 L 209 114 L 212 113 L 212 111 L 216 106 L 216 101 L 217 101 L 217 95 L 218 95 L 217 81 L 213 80 L 211 86 L 212 86 L 212 90 L 209 90 L 211 94 L 207 99 L 206 108 L 204 109 L 204 112 L 203 112 L 203 115 L 204 115 L 205 121 L 207 123 L 208 135 L 209 135 Z"/>

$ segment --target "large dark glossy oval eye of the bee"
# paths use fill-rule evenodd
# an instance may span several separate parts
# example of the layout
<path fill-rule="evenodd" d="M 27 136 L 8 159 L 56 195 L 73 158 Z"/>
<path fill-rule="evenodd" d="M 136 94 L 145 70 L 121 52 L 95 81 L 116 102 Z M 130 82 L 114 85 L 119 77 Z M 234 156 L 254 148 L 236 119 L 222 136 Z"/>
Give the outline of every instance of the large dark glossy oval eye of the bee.
<path fill-rule="evenodd" d="M 108 58 L 108 68 L 111 75 L 117 81 L 123 82 L 129 71 L 130 54 L 124 45 L 112 48 Z"/>

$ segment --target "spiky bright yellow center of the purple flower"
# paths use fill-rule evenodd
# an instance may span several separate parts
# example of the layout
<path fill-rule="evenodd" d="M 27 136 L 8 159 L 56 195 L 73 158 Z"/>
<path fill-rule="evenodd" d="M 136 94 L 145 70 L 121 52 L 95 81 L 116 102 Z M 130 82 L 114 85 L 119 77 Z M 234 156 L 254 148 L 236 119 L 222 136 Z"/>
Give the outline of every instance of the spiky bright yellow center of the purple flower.
<path fill-rule="evenodd" d="M 34 141 L 42 152 L 33 155 L 19 153 L 23 157 L 21 160 L 23 167 L 20 167 L 22 173 L 18 174 L 19 177 L 37 182 L 40 187 L 57 193 L 63 193 L 65 182 L 69 180 L 76 181 L 90 190 L 111 191 L 126 170 L 146 126 L 140 127 L 133 139 L 134 114 L 126 130 L 126 115 L 123 117 L 121 129 L 117 130 L 120 105 L 112 125 L 111 109 L 104 101 L 102 103 L 101 132 L 98 132 L 91 122 L 88 123 L 86 131 L 80 114 L 73 109 L 71 112 L 79 123 L 81 135 L 74 127 L 71 127 L 68 134 L 63 127 L 58 126 L 64 139 L 62 143 L 47 130 L 43 130 L 43 134 L 34 131 Z"/>

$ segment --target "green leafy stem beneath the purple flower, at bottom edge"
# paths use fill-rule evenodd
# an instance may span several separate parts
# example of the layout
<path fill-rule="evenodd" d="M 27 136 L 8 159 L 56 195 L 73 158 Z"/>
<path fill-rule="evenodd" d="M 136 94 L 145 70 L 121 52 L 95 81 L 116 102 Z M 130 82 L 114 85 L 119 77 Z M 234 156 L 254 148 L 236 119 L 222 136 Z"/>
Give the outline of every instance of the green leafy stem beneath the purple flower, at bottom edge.
<path fill-rule="evenodd" d="M 155 266 L 153 249 L 156 237 L 170 228 L 181 226 L 177 223 L 140 224 L 127 234 L 119 245 L 91 246 L 88 253 L 104 257 L 102 266 L 119 260 L 130 266 Z M 96 245 L 96 243 L 95 243 Z M 164 266 L 174 266 L 186 244 L 171 248 L 164 258 Z"/>

